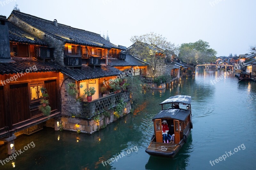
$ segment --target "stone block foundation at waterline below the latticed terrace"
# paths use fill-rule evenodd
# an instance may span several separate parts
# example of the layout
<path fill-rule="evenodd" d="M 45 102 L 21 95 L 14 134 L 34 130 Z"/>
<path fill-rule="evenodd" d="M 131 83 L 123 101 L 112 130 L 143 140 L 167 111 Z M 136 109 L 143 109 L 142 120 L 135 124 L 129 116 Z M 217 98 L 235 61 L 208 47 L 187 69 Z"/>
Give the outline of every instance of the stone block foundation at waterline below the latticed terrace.
<path fill-rule="evenodd" d="M 123 114 L 119 118 L 115 117 L 113 109 L 110 109 L 108 112 L 110 113 L 109 117 L 104 116 L 104 114 L 99 114 L 98 122 L 93 119 L 85 120 L 82 118 L 63 115 L 61 117 L 62 128 L 64 130 L 70 130 L 70 131 L 76 131 L 76 132 L 77 130 L 80 130 L 82 133 L 92 134 L 97 130 L 104 128 L 108 124 L 116 121 L 117 119 L 129 114 L 131 112 L 131 103 L 128 102 L 126 104 L 126 107 L 123 110 Z"/>

